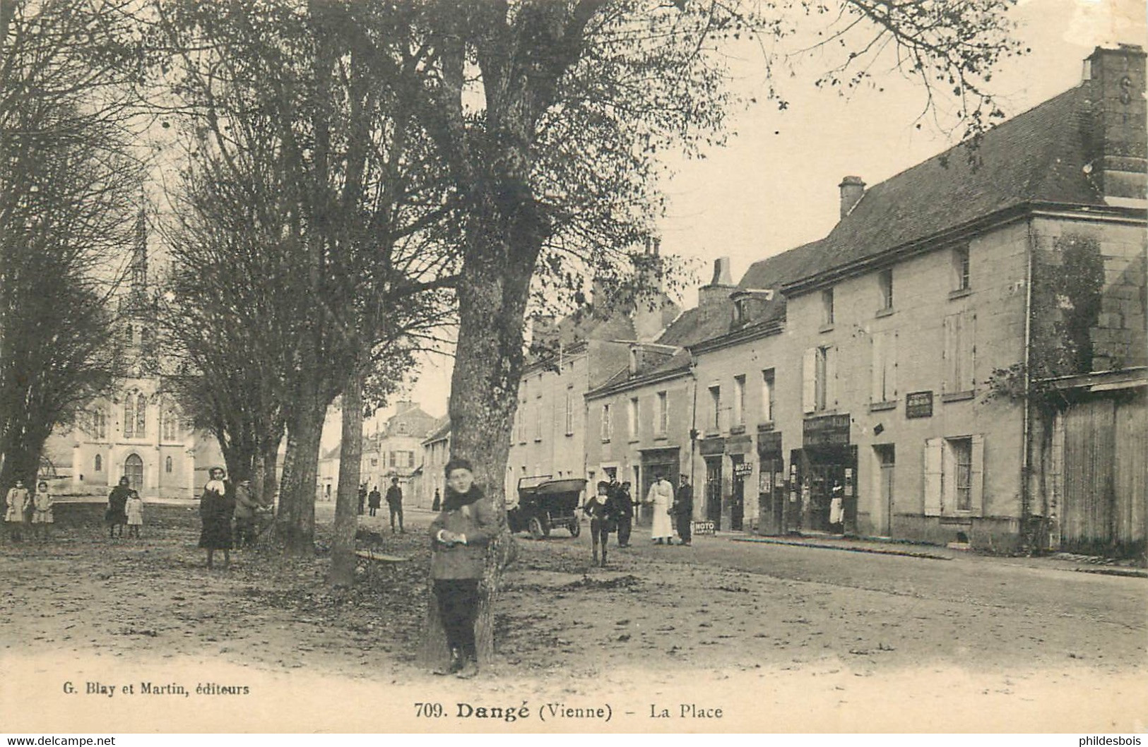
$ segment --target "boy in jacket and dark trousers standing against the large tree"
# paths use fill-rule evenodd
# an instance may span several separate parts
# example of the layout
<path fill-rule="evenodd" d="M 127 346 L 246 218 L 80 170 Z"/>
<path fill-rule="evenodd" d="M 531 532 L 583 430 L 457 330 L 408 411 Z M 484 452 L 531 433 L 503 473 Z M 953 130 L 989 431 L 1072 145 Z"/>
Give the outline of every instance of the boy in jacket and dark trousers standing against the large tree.
<path fill-rule="evenodd" d="M 479 674 L 474 643 L 479 581 L 487 567 L 487 545 L 498 532 L 498 519 L 494 504 L 474 484 L 470 461 L 451 459 L 445 476 L 442 512 L 430 522 L 430 582 L 450 663 L 436 674 L 470 678 Z"/>

